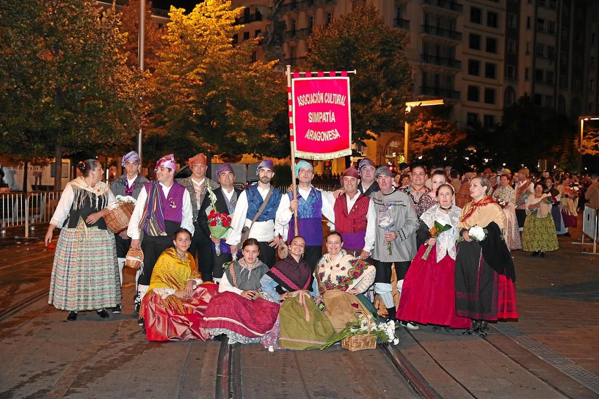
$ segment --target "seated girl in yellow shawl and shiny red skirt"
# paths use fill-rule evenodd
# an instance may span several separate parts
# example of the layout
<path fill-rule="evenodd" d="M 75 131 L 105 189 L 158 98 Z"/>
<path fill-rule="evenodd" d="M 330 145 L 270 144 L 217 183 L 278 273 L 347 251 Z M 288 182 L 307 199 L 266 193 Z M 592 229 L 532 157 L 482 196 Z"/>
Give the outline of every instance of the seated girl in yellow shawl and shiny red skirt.
<path fill-rule="evenodd" d="M 218 287 L 213 282 L 202 283 L 198 267 L 187 252 L 190 243 L 191 233 L 177 230 L 173 235 L 174 248 L 162 252 L 156 261 L 140 307 L 149 341 L 210 338 L 204 330 L 204 312 L 218 294 Z"/>

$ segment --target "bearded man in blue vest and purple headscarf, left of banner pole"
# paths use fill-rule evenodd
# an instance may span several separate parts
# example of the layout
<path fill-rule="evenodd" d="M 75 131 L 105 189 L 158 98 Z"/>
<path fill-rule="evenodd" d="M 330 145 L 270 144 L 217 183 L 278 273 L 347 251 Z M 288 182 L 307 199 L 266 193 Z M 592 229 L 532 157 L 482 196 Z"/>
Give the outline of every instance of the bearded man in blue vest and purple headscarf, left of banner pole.
<path fill-rule="evenodd" d="M 229 232 L 226 243 L 231 245 L 231 253 L 237 252 L 238 245 L 242 245 L 241 232 L 243 227 L 248 227 L 249 238 L 258 240 L 260 247 L 259 259 L 268 267 L 274 266 L 276 261 L 275 248 L 279 246 L 283 226 L 276 224 L 277 215 L 289 209 L 289 197 L 271 187 L 270 181 L 274 176 L 274 164 L 270 159 L 263 160 L 256 169 L 258 184 L 246 188 L 237 200 L 235 214 L 231 221 L 233 229 Z M 267 198 L 270 197 L 262 212 L 258 212 Z M 256 218 L 255 223 L 252 220 Z"/>

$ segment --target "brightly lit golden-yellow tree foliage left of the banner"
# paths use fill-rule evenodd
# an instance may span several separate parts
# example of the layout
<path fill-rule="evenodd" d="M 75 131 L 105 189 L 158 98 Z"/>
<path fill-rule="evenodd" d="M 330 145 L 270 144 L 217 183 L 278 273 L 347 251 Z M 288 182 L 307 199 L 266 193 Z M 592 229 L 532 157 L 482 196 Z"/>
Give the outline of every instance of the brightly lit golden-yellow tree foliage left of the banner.
<path fill-rule="evenodd" d="M 269 153 L 284 141 L 270 129 L 286 106 L 282 75 L 274 75 L 275 62 L 251 62 L 258 40 L 232 43 L 242 12 L 223 0 L 202 2 L 189 14 L 171 7 L 149 90 L 150 148 L 230 157 Z"/>

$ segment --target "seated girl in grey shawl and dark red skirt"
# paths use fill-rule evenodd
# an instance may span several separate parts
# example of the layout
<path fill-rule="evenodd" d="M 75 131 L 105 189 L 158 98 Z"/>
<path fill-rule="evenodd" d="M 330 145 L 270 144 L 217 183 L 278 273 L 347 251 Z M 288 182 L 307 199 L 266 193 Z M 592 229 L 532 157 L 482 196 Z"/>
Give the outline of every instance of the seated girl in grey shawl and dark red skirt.
<path fill-rule="evenodd" d="M 213 336 L 226 334 L 232 341 L 257 343 L 273 328 L 279 304 L 274 299 L 262 299 L 260 280 L 268 266 L 258 259 L 258 241 L 249 238 L 241 248 L 243 258 L 226 268 L 220 280 L 220 294 L 210 302 L 204 325 Z"/>

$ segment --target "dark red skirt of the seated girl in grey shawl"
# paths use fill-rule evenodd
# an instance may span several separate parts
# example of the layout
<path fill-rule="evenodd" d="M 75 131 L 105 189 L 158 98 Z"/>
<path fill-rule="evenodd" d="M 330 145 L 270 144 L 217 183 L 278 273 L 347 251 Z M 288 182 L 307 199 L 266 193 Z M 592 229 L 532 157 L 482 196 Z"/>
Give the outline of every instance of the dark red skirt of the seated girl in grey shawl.
<path fill-rule="evenodd" d="M 279 309 L 278 303 L 262 298 L 245 299 L 237 293 L 226 291 L 210 302 L 204 316 L 204 327 L 258 338 L 273 328 Z"/>

